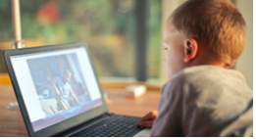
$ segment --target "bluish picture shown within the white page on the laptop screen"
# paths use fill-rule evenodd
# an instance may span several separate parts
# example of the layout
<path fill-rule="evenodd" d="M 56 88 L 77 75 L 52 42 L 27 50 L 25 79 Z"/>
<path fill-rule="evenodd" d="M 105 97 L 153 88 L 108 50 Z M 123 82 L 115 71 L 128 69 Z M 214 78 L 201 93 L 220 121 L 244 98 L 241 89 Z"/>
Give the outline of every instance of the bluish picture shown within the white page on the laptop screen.
<path fill-rule="evenodd" d="M 76 53 L 27 60 L 27 65 L 45 116 L 91 100 Z"/>

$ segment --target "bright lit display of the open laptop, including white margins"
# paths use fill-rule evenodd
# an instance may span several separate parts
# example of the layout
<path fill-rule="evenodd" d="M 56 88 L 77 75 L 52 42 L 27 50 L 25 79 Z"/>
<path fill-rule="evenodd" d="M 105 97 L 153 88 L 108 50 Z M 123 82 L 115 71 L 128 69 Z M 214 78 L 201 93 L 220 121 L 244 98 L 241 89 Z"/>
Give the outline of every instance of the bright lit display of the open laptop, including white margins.
<path fill-rule="evenodd" d="M 84 47 L 10 59 L 34 132 L 103 104 Z"/>

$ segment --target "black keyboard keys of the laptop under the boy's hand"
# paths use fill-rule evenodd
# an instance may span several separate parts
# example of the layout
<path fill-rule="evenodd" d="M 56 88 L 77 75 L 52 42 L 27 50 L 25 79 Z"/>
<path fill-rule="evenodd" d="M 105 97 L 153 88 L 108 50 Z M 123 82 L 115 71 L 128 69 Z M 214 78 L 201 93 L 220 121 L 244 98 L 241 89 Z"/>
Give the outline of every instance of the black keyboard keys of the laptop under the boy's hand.
<path fill-rule="evenodd" d="M 133 136 L 143 128 L 137 127 L 139 117 L 121 116 L 111 120 L 94 130 L 82 134 L 82 137 L 129 137 Z"/>

